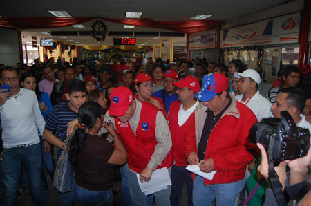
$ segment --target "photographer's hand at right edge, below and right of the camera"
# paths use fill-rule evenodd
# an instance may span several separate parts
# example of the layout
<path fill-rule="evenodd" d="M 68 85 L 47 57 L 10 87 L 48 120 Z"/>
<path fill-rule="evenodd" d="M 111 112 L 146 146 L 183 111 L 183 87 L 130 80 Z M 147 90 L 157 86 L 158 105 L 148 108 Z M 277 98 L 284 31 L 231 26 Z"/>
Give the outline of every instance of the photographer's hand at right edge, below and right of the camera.
<path fill-rule="evenodd" d="M 294 185 L 305 180 L 305 178 L 308 176 L 308 167 L 310 162 L 311 147 L 309 148 L 307 156 L 290 160 L 288 163 L 288 167 L 290 167 L 290 179 L 288 181 L 288 185 Z"/>

